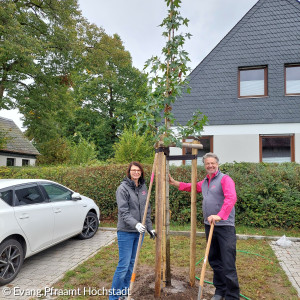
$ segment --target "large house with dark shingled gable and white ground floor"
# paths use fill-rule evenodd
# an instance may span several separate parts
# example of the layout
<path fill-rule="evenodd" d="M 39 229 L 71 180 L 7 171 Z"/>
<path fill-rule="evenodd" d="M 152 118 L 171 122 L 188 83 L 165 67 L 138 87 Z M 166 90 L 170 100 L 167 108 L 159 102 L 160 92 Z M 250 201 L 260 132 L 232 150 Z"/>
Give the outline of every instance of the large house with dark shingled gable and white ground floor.
<path fill-rule="evenodd" d="M 189 78 L 173 112 L 181 124 L 208 117 L 200 156 L 300 163 L 300 1 L 259 0 Z"/>

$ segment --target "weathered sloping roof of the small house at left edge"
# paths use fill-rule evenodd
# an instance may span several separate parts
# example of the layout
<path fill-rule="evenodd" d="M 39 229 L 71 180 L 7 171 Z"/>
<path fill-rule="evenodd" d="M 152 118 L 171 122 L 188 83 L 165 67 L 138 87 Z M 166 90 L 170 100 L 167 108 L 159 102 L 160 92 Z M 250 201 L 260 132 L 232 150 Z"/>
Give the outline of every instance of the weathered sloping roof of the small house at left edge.
<path fill-rule="evenodd" d="M 30 141 L 24 137 L 14 121 L 0 117 L 0 132 L 8 138 L 6 145 L 0 151 L 29 155 L 40 154 Z"/>

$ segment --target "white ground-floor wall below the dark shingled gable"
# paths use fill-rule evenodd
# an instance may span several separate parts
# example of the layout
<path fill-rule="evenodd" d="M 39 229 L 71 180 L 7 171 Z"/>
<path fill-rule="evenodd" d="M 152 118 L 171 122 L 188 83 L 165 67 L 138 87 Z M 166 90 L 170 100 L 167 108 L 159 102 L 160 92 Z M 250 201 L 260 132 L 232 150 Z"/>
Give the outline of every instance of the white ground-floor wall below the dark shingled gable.
<path fill-rule="evenodd" d="M 176 132 L 176 129 L 174 129 Z M 300 163 L 300 123 L 205 126 L 203 136 L 213 136 L 213 151 L 220 162 L 259 162 L 259 135 L 295 135 L 295 161 Z M 182 154 L 171 148 L 170 155 Z M 181 165 L 181 161 L 170 162 Z"/>

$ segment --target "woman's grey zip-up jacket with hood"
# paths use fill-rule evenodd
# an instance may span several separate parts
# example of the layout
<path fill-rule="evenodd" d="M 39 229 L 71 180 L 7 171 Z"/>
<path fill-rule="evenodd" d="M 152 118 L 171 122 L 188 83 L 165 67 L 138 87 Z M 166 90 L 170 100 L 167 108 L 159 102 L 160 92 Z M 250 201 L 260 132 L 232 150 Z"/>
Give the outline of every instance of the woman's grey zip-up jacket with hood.
<path fill-rule="evenodd" d="M 145 181 L 135 185 L 134 181 L 125 178 L 116 192 L 118 204 L 118 231 L 137 232 L 135 225 L 142 223 L 146 200 L 147 187 Z M 151 208 L 148 206 L 145 223 L 148 231 L 153 230 L 151 222 Z"/>

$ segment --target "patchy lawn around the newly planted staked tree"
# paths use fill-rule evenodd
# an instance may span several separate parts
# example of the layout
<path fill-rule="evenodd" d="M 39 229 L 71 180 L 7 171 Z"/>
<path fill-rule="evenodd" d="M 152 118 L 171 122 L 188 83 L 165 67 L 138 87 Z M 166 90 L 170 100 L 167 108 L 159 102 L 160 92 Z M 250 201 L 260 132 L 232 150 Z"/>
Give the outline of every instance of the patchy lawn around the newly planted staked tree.
<path fill-rule="evenodd" d="M 205 252 L 206 242 L 197 239 L 197 260 L 201 260 Z M 265 240 L 238 240 L 237 270 L 241 293 L 248 299 L 298 299 L 296 290 L 292 287 L 286 274 L 281 269 L 270 245 Z M 240 250 L 244 252 L 240 252 Z M 247 252 L 247 253 L 245 253 Z M 257 254 L 257 255 L 256 255 Z M 93 258 L 69 271 L 65 277 L 55 284 L 57 289 L 77 289 L 82 295 L 74 299 L 95 299 L 84 289 L 109 289 L 118 262 L 117 243 L 102 248 Z M 148 237 L 144 239 L 139 257 L 137 279 L 149 273 L 155 265 L 155 243 Z M 189 268 L 189 239 L 183 236 L 171 236 L 171 266 L 173 268 Z M 200 276 L 202 263 L 196 266 L 196 274 Z M 212 281 L 212 271 L 207 267 L 207 278 Z M 188 278 L 187 278 L 188 279 Z M 58 299 L 67 300 L 70 296 Z M 73 299 L 73 298 L 72 298 Z M 108 299 L 98 294 L 96 299 Z"/>

